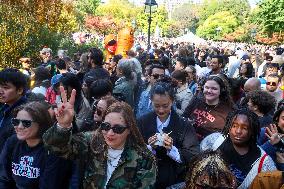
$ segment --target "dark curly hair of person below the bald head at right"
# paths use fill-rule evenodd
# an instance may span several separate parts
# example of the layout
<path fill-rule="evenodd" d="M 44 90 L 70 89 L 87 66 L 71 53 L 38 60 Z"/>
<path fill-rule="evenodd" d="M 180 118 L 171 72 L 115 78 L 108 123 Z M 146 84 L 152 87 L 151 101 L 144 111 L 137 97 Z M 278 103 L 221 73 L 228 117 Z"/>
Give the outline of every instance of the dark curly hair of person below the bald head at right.
<path fill-rule="evenodd" d="M 248 93 L 246 98 L 248 101 L 251 100 L 252 104 L 257 106 L 258 110 L 263 114 L 269 113 L 276 106 L 276 100 L 274 96 L 266 91 L 251 91 Z"/>

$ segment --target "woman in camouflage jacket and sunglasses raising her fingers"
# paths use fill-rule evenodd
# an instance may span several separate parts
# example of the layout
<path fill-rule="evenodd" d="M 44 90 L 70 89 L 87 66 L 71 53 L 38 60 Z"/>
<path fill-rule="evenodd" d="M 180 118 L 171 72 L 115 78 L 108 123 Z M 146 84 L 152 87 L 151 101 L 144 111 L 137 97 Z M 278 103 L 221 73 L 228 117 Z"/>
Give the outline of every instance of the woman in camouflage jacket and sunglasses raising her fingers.
<path fill-rule="evenodd" d="M 62 104 L 56 110 L 58 124 L 44 135 L 48 149 L 61 157 L 85 161 L 83 188 L 153 188 L 154 158 L 139 133 L 131 107 L 112 104 L 95 132 L 72 135 L 74 101 L 61 87 Z"/>

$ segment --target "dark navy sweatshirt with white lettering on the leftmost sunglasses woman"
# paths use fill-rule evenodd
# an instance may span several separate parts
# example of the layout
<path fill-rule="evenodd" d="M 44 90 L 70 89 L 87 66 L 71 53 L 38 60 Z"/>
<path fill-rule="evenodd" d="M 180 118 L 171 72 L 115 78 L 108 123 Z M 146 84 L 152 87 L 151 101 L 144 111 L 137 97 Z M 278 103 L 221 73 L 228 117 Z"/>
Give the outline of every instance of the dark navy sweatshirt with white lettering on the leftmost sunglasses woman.
<path fill-rule="evenodd" d="M 68 189 L 71 163 L 11 136 L 0 155 L 1 189 Z"/>

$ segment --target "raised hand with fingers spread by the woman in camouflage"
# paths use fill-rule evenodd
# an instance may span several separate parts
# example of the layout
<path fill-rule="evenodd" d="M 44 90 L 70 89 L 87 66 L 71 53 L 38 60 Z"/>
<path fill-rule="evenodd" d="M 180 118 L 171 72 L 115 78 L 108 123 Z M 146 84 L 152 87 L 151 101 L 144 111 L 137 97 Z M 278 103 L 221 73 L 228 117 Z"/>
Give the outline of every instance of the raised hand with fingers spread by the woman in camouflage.
<path fill-rule="evenodd" d="M 63 86 L 60 86 L 60 94 L 62 98 L 62 103 L 54 109 L 56 120 L 61 127 L 69 128 L 71 127 L 74 117 L 76 90 L 72 90 L 71 97 L 69 100 L 67 99 L 67 95 Z"/>

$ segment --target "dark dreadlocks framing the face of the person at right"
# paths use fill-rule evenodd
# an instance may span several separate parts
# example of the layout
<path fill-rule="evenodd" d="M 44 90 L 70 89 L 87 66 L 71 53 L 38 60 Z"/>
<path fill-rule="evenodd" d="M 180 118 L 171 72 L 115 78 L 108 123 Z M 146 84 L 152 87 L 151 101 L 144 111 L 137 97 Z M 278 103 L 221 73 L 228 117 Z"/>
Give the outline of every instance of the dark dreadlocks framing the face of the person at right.
<path fill-rule="evenodd" d="M 248 121 L 249 121 L 250 131 L 251 131 L 250 143 L 256 144 L 257 138 L 260 133 L 259 120 L 258 120 L 258 116 L 247 108 L 237 109 L 228 114 L 225 127 L 222 131 L 223 135 L 225 136 L 229 135 L 230 129 L 233 126 L 233 122 L 238 115 L 247 116 Z"/>

